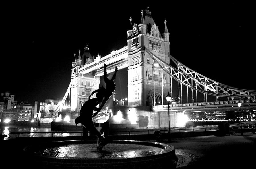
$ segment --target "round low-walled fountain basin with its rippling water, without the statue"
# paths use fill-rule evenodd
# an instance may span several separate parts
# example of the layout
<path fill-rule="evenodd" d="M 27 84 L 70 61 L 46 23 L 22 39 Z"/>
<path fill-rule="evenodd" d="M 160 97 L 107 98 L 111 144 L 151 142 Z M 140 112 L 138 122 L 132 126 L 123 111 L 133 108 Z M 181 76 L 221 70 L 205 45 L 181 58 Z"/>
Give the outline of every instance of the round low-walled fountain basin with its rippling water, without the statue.
<path fill-rule="evenodd" d="M 158 142 L 113 140 L 97 151 L 97 140 L 70 140 L 28 146 L 42 168 L 176 168 L 173 146 Z"/>

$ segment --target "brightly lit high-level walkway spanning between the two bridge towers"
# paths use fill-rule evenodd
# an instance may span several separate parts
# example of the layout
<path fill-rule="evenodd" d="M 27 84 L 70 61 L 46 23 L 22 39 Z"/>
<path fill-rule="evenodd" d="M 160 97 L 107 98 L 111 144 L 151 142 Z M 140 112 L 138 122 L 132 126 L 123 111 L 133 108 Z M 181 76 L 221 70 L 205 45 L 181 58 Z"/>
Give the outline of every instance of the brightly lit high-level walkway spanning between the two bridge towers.
<path fill-rule="evenodd" d="M 127 46 L 113 51 L 98 60 L 96 59 L 88 65 L 84 65 L 78 70 L 78 73 L 86 74 L 92 72 L 94 76 L 103 76 L 104 64 L 108 65 L 107 74 L 114 72 L 115 66 L 117 66 L 119 70 L 128 67 Z"/>

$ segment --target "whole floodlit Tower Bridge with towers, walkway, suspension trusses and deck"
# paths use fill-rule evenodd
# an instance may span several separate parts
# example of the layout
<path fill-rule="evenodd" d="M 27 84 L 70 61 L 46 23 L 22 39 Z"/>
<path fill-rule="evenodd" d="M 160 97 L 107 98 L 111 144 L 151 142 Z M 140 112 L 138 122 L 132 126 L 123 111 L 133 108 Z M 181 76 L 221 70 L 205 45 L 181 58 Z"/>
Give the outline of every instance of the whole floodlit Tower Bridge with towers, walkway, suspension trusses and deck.
<path fill-rule="evenodd" d="M 160 126 L 160 117 L 155 117 L 154 112 L 167 112 L 168 103 L 165 96 L 170 92 L 179 91 L 181 103 L 171 103 L 170 109 L 174 112 L 184 113 L 184 110 L 233 110 L 238 102 L 244 102 L 244 109 L 255 110 L 256 91 L 238 89 L 207 78 L 180 63 L 170 55 L 169 31 L 166 21 L 163 22 L 164 31 L 158 29 L 149 9 L 141 12 L 141 22 L 133 24 L 127 31 L 127 45 L 119 50 L 101 57 L 99 54 L 93 58 L 88 46 L 84 52 L 72 62 L 71 82 L 67 88 L 61 104 L 55 110 L 55 114 L 61 111 L 63 106 L 68 106 L 71 112 L 79 112 L 82 104 L 88 100 L 89 95 L 100 85 L 100 76 L 103 75 L 104 64 L 107 74 L 117 68 L 128 68 L 128 106 L 123 107 L 124 119 L 129 120 L 129 111 L 135 118 L 148 117 L 151 127 Z M 171 63 L 176 67 L 171 66 Z M 177 81 L 178 87 L 173 87 L 173 81 Z M 187 89 L 183 100 L 183 88 Z M 190 93 L 190 94 L 189 94 Z M 198 102 L 198 95 L 203 95 L 204 101 Z M 192 95 L 192 102 L 189 102 Z M 209 102 L 207 96 L 216 97 L 216 101 Z M 95 94 L 92 98 L 95 97 Z M 195 100 L 195 101 L 194 101 Z M 148 110 L 145 112 L 145 107 Z M 113 108 L 114 115 L 120 106 Z M 140 111 L 141 110 L 141 111 Z M 151 113 L 150 113 L 151 112 Z M 158 120 L 154 120 L 158 118 Z M 162 117 L 162 119 L 164 119 Z M 139 121 L 139 120 L 137 120 Z M 166 120 L 164 120 L 166 121 Z M 174 121 L 177 121 L 177 119 Z M 175 122 L 174 126 L 175 126 Z M 158 123 L 158 124 L 155 124 Z M 167 124 L 167 122 L 164 122 Z"/>

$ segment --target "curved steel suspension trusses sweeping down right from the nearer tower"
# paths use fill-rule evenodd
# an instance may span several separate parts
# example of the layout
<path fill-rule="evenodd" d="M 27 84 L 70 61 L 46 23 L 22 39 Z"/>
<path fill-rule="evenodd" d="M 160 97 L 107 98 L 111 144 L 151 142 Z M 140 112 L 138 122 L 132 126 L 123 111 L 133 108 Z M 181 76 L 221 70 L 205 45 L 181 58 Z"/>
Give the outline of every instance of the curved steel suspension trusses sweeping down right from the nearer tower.
<path fill-rule="evenodd" d="M 177 68 L 172 67 L 170 64 L 166 63 L 158 56 L 153 54 L 150 50 L 145 47 L 145 51 L 150 55 L 150 57 L 154 60 L 155 63 L 158 63 L 159 67 L 162 68 L 166 73 L 168 73 L 171 79 L 175 79 L 179 84 L 185 85 L 196 92 L 201 92 L 204 95 L 212 95 L 218 97 L 226 97 L 235 99 L 255 99 L 256 91 L 255 90 L 245 90 L 238 89 L 234 87 L 230 87 L 228 85 L 224 85 L 222 83 L 211 80 L 192 69 L 186 67 L 182 63 L 180 63 L 177 59 L 169 55 L 170 61 L 173 61 Z M 193 96 L 192 96 L 193 97 Z"/>

